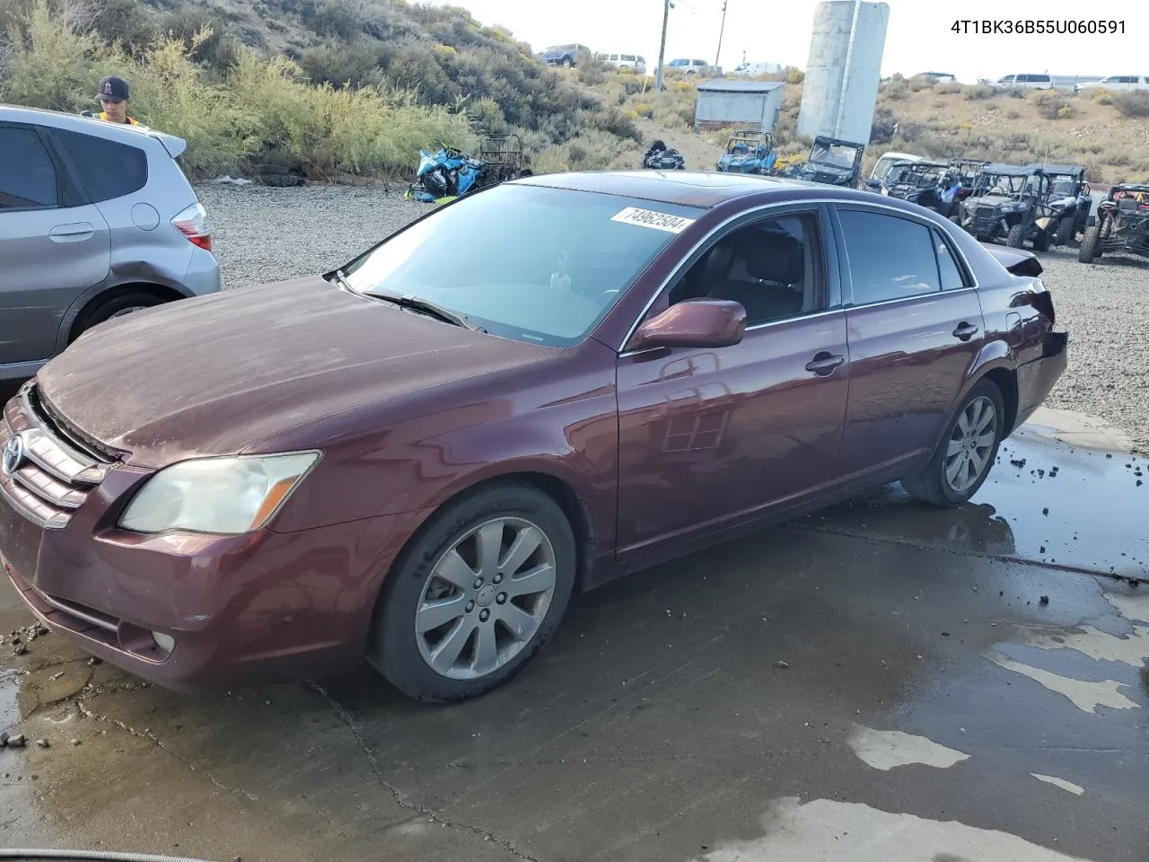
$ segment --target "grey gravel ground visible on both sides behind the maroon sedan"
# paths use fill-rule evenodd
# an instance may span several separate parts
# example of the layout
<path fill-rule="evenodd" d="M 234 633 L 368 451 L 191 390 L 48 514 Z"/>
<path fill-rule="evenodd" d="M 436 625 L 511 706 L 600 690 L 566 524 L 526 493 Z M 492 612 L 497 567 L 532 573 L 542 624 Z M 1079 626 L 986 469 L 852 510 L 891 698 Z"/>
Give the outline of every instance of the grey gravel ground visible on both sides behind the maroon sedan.
<path fill-rule="evenodd" d="M 370 187 L 202 186 L 226 288 L 322 272 L 347 262 L 427 211 Z M 1149 263 L 1077 251 L 1041 255 L 1058 323 L 1070 331 L 1070 368 L 1049 407 L 1100 416 L 1149 452 Z"/>

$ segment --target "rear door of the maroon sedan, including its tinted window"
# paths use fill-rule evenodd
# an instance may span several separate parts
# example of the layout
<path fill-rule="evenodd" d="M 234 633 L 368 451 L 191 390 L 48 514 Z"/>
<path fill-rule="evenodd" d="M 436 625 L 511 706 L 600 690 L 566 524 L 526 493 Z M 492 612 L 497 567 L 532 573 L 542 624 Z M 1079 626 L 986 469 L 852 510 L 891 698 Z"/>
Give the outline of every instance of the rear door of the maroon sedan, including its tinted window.
<path fill-rule="evenodd" d="M 927 220 L 834 209 L 850 360 L 840 472 L 892 480 L 936 445 L 985 338 L 981 303 Z"/>

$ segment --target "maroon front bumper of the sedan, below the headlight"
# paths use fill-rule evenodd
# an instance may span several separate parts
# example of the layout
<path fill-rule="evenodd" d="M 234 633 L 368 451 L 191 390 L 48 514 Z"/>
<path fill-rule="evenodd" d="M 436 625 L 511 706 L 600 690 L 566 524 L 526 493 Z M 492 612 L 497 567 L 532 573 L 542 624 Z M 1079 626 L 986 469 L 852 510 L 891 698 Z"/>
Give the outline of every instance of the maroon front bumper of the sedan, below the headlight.
<path fill-rule="evenodd" d="M 17 395 L 0 423 L 0 447 L 15 431 L 43 440 L 34 431 L 46 423 L 28 413 Z M 304 679 L 357 667 L 381 579 L 424 515 L 293 533 L 142 536 L 115 523 L 149 474 L 113 465 L 90 488 L 74 483 L 65 500 L 74 508 L 60 507 L 44 501 L 49 493 L 64 500 L 68 484 L 41 480 L 37 462 L 48 453 L 39 446 L 18 479 L 0 474 L 0 567 L 49 628 L 175 690 Z M 63 460 L 55 469 L 69 471 Z M 175 647 L 157 646 L 153 632 L 172 638 Z"/>

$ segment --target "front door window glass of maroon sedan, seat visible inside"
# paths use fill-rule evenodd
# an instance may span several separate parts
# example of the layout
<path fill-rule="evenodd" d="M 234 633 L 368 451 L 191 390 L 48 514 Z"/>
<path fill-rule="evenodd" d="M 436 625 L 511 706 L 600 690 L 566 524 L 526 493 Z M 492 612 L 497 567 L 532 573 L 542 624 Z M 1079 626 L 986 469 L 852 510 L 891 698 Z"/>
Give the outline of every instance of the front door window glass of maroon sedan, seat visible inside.
<path fill-rule="evenodd" d="M 670 292 L 670 303 L 726 299 L 754 326 L 825 308 L 825 277 L 812 213 L 751 222 L 719 238 Z"/>

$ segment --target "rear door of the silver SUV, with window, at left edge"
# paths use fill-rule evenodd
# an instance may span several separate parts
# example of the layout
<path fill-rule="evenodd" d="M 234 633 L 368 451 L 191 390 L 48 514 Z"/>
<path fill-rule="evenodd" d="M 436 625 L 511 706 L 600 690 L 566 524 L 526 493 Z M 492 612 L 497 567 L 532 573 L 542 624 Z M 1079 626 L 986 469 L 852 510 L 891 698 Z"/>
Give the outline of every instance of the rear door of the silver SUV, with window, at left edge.
<path fill-rule="evenodd" d="M 102 282 L 111 241 L 38 126 L 0 123 L 0 365 L 51 359 L 72 300 Z"/>

